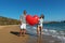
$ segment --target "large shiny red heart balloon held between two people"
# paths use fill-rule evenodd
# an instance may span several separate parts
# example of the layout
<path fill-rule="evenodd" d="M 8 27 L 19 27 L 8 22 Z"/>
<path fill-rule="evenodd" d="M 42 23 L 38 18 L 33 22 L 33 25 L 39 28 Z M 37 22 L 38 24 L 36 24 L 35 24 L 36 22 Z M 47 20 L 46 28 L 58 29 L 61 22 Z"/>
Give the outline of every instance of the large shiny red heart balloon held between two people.
<path fill-rule="evenodd" d="M 27 15 L 26 16 L 26 22 L 31 26 L 38 24 L 38 19 L 39 19 L 39 17 L 37 15 L 35 15 L 35 16 Z"/>

